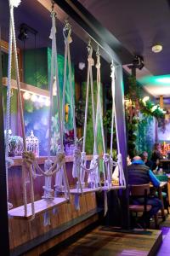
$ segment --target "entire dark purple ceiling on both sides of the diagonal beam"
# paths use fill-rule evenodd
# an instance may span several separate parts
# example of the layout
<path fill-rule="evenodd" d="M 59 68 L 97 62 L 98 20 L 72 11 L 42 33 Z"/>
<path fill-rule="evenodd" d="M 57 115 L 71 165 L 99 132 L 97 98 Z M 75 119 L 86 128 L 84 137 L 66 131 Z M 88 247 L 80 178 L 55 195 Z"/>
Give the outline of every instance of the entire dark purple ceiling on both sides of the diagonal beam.
<path fill-rule="evenodd" d="M 154 75 L 170 73 L 170 1 L 124 1 L 124 0 L 79 0 L 88 11 L 96 17 L 122 44 L 133 54 L 143 55 L 144 64 Z M 37 47 L 51 45 L 48 38 L 51 20 L 47 9 L 35 0 L 22 0 L 20 7 L 14 10 L 16 34 L 21 23 L 37 30 Z M 0 1 L 0 26 L 2 38 L 8 41 L 8 1 Z M 57 44 L 59 53 L 63 54 L 63 24 L 57 22 Z M 73 27 L 74 31 L 74 27 Z M 159 54 L 151 51 L 153 44 L 160 43 L 163 50 Z M 17 45 L 24 44 L 17 40 Z M 87 59 L 86 45 L 76 34 L 71 44 L 72 61 L 77 65 Z M 29 34 L 26 48 L 35 47 L 35 38 Z M 104 61 L 104 69 L 108 70 Z M 108 73 L 108 71 L 107 71 Z"/>

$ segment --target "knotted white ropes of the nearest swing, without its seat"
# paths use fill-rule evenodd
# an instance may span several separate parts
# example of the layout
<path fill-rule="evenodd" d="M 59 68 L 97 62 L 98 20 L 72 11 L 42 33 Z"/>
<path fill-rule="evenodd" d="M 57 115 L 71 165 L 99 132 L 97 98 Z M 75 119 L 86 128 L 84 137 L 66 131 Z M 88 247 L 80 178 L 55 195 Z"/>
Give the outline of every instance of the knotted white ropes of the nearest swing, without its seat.
<path fill-rule="evenodd" d="M 19 105 L 20 105 L 20 119 L 21 119 L 21 128 L 22 128 L 22 136 L 23 136 L 23 144 L 24 144 L 24 152 L 23 152 L 23 162 L 22 162 L 22 181 L 23 181 L 23 197 L 24 197 L 24 212 L 25 216 L 27 216 L 27 194 L 26 194 L 26 183 L 28 183 L 26 179 L 26 174 L 28 173 L 29 175 L 29 182 L 31 185 L 31 219 L 35 217 L 35 206 L 34 206 L 34 188 L 33 188 L 33 177 L 37 177 L 37 172 L 40 172 L 42 175 L 46 177 L 45 180 L 45 186 L 44 186 L 44 195 L 43 198 L 45 199 L 52 199 L 51 196 L 51 180 L 48 177 L 52 177 L 54 173 L 59 172 L 60 168 L 63 167 L 64 170 L 64 177 L 65 177 L 65 198 L 70 199 L 70 189 L 69 189 L 69 184 L 68 184 L 68 179 L 66 176 L 66 170 L 65 170 L 65 154 L 64 154 L 64 147 L 63 147 L 63 139 L 62 139 L 62 125 L 61 125 L 61 116 L 60 116 L 60 110 L 59 110 L 59 136 L 60 136 L 60 147 L 61 150 L 58 154 L 56 154 L 56 158 L 54 160 L 54 164 L 52 165 L 49 156 L 50 156 L 50 141 L 51 141 L 51 115 L 52 115 L 52 104 L 50 105 L 50 111 L 49 111 L 49 116 L 48 116 L 48 131 L 49 131 L 49 136 L 48 136 L 48 160 L 45 162 L 44 169 L 45 172 L 42 170 L 40 166 L 37 164 L 37 160 L 35 158 L 35 155 L 32 152 L 27 152 L 26 151 L 26 133 L 25 133 L 25 123 L 24 123 L 24 114 L 23 114 L 23 107 L 22 107 L 22 100 L 21 100 L 21 93 L 20 93 L 20 75 L 19 75 L 19 66 L 18 66 L 18 56 L 17 56 L 17 49 L 16 49 L 16 38 L 15 38 L 15 30 L 14 30 L 14 7 L 18 7 L 20 4 L 20 1 L 16 3 L 17 1 L 9 1 L 9 9 L 10 9 L 10 28 L 9 28 L 9 34 L 12 33 L 12 38 L 9 37 L 9 43 L 10 43 L 10 38 L 13 42 L 14 46 L 14 66 L 15 66 L 15 74 L 16 74 L 16 81 L 17 81 L 17 88 L 18 88 L 18 94 L 19 94 Z M 54 5 L 53 5 L 54 6 Z M 55 38 L 55 32 L 56 32 L 56 27 L 55 27 L 55 14 L 54 11 L 52 10 L 52 48 L 54 49 L 53 54 L 52 54 L 52 70 L 51 70 L 51 82 L 50 82 L 50 98 L 51 98 L 51 103 L 53 102 L 53 96 L 51 91 L 53 90 L 53 83 L 52 83 L 52 78 L 54 81 L 54 77 L 52 76 L 52 73 L 54 73 L 55 70 L 55 76 L 56 76 L 56 83 L 57 83 L 57 99 L 58 99 L 58 109 L 59 109 L 59 79 L 58 79 L 58 63 L 57 63 L 57 50 L 56 50 L 56 38 Z M 11 43 L 10 43 L 11 45 Z M 10 47 L 11 49 L 11 47 Z M 12 55 L 12 50 L 9 52 L 9 63 L 8 67 L 10 69 L 11 67 L 11 55 Z M 10 82 L 9 80 L 11 79 L 10 75 L 10 70 L 8 70 L 8 87 L 10 88 Z M 9 89 L 8 89 L 9 90 Z M 10 94 L 8 93 L 8 97 Z M 9 105 L 9 103 L 8 103 Z M 8 131 L 7 131 L 7 139 L 8 139 Z M 6 144 L 6 152 L 8 149 L 8 144 Z M 7 154 L 6 154 L 7 155 Z M 33 170 L 34 169 L 34 170 Z"/>

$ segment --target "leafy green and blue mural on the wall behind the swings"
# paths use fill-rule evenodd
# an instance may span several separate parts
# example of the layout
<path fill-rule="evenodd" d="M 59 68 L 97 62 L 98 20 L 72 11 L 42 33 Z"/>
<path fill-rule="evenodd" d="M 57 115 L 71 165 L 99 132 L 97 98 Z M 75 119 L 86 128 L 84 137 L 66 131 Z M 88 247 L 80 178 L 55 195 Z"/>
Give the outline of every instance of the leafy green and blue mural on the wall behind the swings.
<path fill-rule="evenodd" d="M 34 65 L 35 55 L 37 60 L 37 68 Z M 58 66 L 59 66 L 59 99 L 60 107 L 62 106 L 62 90 L 63 90 L 63 79 L 64 79 L 64 63 L 65 58 L 63 55 L 57 56 Z M 25 82 L 27 84 L 33 84 L 39 88 L 48 90 L 48 84 L 50 82 L 51 73 L 51 49 L 29 49 L 26 50 L 25 54 Z M 75 81 L 74 81 L 74 66 L 72 65 L 72 84 L 73 90 L 75 91 Z M 75 95 L 75 92 L 74 92 Z M 66 90 L 65 90 L 65 104 L 69 105 L 68 121 L 65 123 L 65 129 L 71 131 L 73 129 L 72 121 L 72 104 L 71 104 L 71 92 L 69 88 L 68 73 L 66 78 Z M 58 125 L 58 113 L 57 113 L 57 97 L 54 96 L 54 118 L 53 118 L 53 133 L 54 138 L 56 138 Z M 48 108 L 38 108 L 31 101 L 25 101 L 25 120 L 26 120 L 26 134 L 29 135 L 31 130 L 34 131 L 35 136 L 39 138 L 40 141 L 40 154 L 47 154 L 47 129 L 48 129 Z M 56 142 L 53 142 L 53 144 Z M 56 148 L 55 148 L 56 149 Z"/>

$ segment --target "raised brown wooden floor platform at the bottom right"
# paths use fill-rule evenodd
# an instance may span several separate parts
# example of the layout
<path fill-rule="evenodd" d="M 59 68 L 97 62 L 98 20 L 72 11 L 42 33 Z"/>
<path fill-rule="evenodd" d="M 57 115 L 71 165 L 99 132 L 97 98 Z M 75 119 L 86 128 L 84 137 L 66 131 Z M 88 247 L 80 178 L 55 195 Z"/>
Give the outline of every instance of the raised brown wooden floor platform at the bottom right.
<path fill-rule="evenodd" d="M 101 230 L 101 227 L 82 236 L 53 255 L 58 256 L 146 256 L 156 255 L 161 245 L 161 230 L 151 230 L 150 235 L 139 235 Z M 51 254 L 50 254 L 51 255 Z"/>

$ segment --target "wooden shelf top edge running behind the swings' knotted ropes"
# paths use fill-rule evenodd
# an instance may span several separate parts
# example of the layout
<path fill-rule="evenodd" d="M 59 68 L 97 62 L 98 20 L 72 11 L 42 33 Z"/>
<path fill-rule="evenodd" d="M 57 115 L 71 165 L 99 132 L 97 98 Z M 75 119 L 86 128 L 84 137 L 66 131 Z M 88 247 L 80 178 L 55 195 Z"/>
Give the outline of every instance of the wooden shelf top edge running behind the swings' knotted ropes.
<path fill-rule="evenodd" d="M 93 155 L 89 154 L 87 155 L 87 160 L 92 160 Z M 14 166 L 21 166 L 22 165 L 22 157 L 21 156 L 15 156 L 11 158 L 12 160 L 14 160 Z M 44 161 L 48 159 L 48 156 L 39 156 L 37 157 L 37 163 L 38 165 L 43 165 Z M 51 160 L 55 160 L 55 156 L 51 156 L 50 157 Z M 74 158 L 72 155 L 66 155 L 65 157 L 65 162 L 66 163 L 70 163 L 73 162 Z"/>

